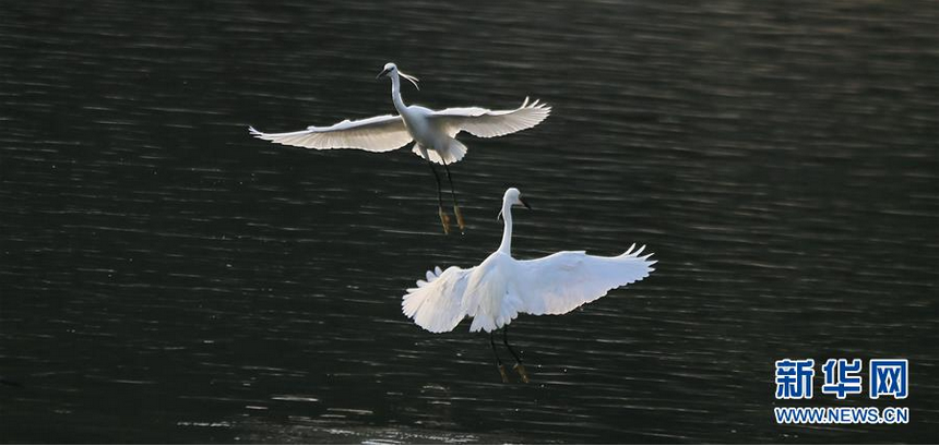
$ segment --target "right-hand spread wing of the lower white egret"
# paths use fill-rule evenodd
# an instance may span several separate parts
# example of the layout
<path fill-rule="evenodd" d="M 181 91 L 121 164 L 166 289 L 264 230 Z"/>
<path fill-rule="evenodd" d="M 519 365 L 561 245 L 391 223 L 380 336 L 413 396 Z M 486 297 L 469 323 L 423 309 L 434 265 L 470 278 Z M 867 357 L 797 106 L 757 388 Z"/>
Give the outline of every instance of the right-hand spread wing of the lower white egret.
<path fill-rule="evenodd" d="M 564 251 L 547 257 L 519 262 L 516 289 L 530 314 L 564 314 L 597 300 L 618 287 L 642 280 L 654 270 L 652 254 L 639 256 L 640 248 L 616 257 Z"/>

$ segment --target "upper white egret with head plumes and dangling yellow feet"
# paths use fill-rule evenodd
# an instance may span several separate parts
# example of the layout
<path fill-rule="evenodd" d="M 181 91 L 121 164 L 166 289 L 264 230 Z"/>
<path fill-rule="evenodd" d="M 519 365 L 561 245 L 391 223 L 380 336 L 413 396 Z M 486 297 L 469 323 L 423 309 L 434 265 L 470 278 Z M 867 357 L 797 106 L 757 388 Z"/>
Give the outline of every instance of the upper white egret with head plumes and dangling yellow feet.
<path fill-rule="evenodd" d="M 488 110 L 479 107 L 430 110 L 420 106 L 407 106 L 401 97 L 401 77 L 420 89 L 417 86 L 417 77 L 401 72 L 394 63 L 385 63 L 376 79 L 382 76 L 391 77 L 391 100 L 399 114 L 345 120 L 330 126 L 311 125 L 299 132 L 264 133 L 251 126 L 248 130 L 261 140 L 316 149 L 359 148 L 368 152 L 390 152 L 414 141 L 413 152 L 427 160 L 433 179 L 437 180 L 438 215 L 443 232 L 450 233 L 450 216 L 443 210 L 440 177 L 433 168 L 435 162 L 443 165 L 447 170 L 453 196 L 453 214 L 462 231 L 463 215 L 456 203 L 453 177 L 448 167 L 466 155 L 466 146 L 455 138 L 456 134 L 465 131 L 479 137 L 495 137 L 515 133 L 544 121 L 551 108 L 538 104 L 537 100 L 528 103 L 526 97 L 522 106 L 514 110 Z"/>

